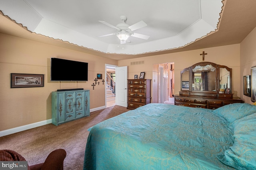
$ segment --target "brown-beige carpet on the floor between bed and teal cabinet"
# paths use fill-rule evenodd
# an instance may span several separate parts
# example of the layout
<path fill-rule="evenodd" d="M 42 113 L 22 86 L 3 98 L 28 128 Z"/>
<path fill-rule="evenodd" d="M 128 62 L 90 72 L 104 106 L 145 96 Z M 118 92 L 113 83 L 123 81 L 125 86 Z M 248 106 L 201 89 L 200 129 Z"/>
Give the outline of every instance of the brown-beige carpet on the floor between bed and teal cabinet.
<path fill-rule="evenodd" d="M 88 128 L 106 119 L 128 111 L 126 107 L 113 106 L 90 113 L 85 117 L 59 126 L 52 124 L 24 130 L 0 137 L 0 149 L 10 149 L 21 154 L 28 165 L 44 162 L 50 152 L 62 148 L 67 152 L 64 170 L 82 170 Z"/>

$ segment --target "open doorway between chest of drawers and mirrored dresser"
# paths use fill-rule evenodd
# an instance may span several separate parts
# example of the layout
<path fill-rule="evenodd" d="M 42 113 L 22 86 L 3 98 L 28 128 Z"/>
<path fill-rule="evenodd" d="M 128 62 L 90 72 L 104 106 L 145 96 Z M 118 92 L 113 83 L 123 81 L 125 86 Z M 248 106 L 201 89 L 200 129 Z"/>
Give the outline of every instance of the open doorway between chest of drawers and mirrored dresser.
<path fill-rule="evenodd" d="M 174 105 L 174 63 L 153 65 L 152 103 Z"/>

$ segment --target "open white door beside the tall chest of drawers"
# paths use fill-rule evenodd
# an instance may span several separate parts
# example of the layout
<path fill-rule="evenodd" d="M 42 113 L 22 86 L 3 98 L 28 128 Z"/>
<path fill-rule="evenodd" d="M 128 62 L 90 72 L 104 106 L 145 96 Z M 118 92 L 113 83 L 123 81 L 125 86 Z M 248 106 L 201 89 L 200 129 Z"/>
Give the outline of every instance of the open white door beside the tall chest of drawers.
<path fill-rule="evenodd" d="M 127 107 L 127 66 L 116 67 L 116 105 Z"/>

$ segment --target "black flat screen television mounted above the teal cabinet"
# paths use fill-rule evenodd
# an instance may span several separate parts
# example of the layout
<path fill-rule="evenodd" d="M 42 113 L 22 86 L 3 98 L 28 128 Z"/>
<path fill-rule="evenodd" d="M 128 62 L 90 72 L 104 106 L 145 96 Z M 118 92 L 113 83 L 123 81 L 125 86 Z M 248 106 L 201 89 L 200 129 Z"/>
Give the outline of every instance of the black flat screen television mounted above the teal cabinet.
<path fill-rule="evenodd" d="M 88 63 L 51 57 L 51 81 L 88 81 Z"/>

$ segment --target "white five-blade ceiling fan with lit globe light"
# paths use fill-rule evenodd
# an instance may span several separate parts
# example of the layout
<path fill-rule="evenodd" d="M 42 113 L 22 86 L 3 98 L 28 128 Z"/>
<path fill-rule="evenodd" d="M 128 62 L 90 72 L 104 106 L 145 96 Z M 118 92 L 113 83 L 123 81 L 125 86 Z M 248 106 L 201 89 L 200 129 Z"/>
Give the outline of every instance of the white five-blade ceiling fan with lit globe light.
<path fill-rule="evenodd" d="M 130 36 L 136 37 L 136 38 L 141 38 L 141 39 L 144 39 L 144 40 L 148 40 L 148 38 L 150 36 L 133 32 L 134 30 L 138 30 L 142 27 L 147 26 L 147 24 L 144 21 L 140 21 L 140 22 L 137 22 L 136 24 L 133 24 L 133 25 L 129 26 L 128 24 L 125 23 L 125 21 L 127 20 L 126 16 L 120 16 L 120 19 L 122 20 L 122 23 L 117 24 L 116 26 L 113 26 L 113 25 L 111 25 L 111 24 L 109 24 L 105 21 L 99 21 L 102 24 L 105 24 L 106 26 L 109 26 L 109 27 L 114 28 L 115 30 L 117 30 L 116 33 L 106 34 L 106 35 L 99 36 L 99 37 L 106 37 L 106 36 L 116 35 L 120 40 L 120 44 L 126 43 L 126 40 Z"/>

